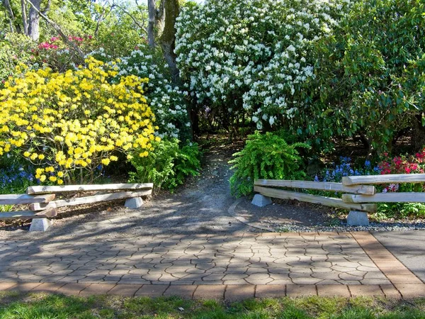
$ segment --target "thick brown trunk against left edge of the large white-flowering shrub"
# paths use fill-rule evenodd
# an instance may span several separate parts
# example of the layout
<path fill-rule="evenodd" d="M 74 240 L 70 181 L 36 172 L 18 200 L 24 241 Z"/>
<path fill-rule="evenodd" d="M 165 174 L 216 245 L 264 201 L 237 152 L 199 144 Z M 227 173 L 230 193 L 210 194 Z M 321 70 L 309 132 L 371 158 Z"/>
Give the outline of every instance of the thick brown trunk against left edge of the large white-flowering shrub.
<path fill-rule="evenodd" d="M 174 53 L 176 46 L 176 18 L 179 16 L 179 12 L 179 0 L 165 0 L 164 31 L 161 38 L 159 38 L 164 58 L 171 71 L 171 79 L 175 84 L 180 82 L 179 69 L 177 69 L 176 65 L 176 54 Z"/>

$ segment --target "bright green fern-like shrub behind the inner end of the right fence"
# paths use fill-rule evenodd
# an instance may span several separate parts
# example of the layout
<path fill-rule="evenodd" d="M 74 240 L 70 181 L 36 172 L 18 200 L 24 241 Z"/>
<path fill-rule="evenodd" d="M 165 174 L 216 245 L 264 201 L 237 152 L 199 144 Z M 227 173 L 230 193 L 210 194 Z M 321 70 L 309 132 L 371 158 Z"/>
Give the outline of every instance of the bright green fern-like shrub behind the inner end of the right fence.
<path fill-rule="evenodd" d="M 249 135 L 241 152 L 235 153 L 235 172 L 230 177 L 230 190 L 234 196 L 249 195 L 254 191 L 254 179 L 302 179 L 305 172 L 297 147 L 309 149 L 304 143 L 288 144 L 280 135 Z"/>

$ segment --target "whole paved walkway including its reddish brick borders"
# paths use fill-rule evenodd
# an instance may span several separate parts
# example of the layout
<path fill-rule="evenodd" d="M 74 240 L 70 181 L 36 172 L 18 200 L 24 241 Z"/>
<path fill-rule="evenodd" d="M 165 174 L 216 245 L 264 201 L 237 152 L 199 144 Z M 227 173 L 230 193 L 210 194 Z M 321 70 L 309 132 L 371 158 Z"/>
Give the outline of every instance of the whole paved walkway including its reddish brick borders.
<path fill-rule="evenodd" d="M 253 297 L 261 291 L 280 296 L 298 291 L 407 297 L 412 291 L 421 295 L 423 289 L 425 294 L 425 285 L 370 233 L 4 240 L 0 254 L 0 289 L 37 291 L 52 287 L 42 283 L 52 283 L 64 293 L 72 284 L 79 287 L 77 294 L 121 291 L 139 296 L 140 291 L 174 291 L 193 298 L 196 291 L 198 295 L 208 291 L 205 285 L 218 289 L 223 298 L 225 292 L 230 298 Z"/>

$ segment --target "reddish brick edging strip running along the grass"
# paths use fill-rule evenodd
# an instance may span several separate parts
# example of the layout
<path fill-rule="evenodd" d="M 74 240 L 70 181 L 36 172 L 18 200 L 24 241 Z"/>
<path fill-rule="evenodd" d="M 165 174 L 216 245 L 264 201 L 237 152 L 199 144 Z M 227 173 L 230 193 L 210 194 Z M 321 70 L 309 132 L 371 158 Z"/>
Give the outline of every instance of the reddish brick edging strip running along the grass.
<path fill-rule="evenodd" d="M 404 298 L 425 296 L 425 285 L 407 284 L 412 293 Z M 402 298 L 392 285 L 134 285 L 134 284 L 57 284 L 57 283 L 6 283 L 0 291 L 21 293 L 62 293 L 66 296 L 116 295 L 125 297 L 180 296 L 188 299 L 217 299 L 238 301 L 246 298 L 280 298 L 320 296 L 356 297 L 380 296 Z"/>

